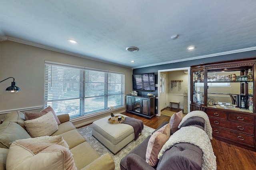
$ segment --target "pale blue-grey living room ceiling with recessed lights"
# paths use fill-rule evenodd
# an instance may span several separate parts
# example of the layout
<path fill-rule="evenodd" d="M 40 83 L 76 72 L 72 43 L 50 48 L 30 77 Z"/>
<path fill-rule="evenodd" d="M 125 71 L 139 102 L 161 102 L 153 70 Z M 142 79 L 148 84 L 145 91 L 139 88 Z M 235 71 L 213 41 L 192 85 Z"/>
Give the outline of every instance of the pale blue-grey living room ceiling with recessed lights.
<path fill-rule="evenodd" d="M 0 6 L 1 41 L 128 68 L 256 50 L 255 0 L 0 0 Z"/>

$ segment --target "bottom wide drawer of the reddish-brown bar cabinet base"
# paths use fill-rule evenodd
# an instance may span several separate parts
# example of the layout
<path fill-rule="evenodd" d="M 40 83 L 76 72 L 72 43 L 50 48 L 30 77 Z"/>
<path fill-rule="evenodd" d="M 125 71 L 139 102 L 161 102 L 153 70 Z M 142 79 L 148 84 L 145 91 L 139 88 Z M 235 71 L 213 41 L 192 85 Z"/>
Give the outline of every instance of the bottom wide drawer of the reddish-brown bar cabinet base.
<path fill-rule="evenodd" d="M 215 136 L 226 138 L 228 140 L 232 140 L 233 142 L 239 142 L 240 144 L 254 147 L 254 136 L 241 134 L 238 132 L 232 132 L 230 130 L 217 128 L 215 126 L 212 126 L 212 134 Z"/>

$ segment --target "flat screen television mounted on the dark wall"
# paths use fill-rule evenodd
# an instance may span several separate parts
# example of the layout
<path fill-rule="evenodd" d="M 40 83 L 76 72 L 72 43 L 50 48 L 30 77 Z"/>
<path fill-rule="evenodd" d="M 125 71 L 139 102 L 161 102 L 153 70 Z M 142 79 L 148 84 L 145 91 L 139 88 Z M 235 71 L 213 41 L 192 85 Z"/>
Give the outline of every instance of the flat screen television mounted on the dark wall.
<path fill-rule="evenodd" d="M 155 74 L 133 74 L 132 75 L 133 90 L 154 91 L 155 88 Z"/>

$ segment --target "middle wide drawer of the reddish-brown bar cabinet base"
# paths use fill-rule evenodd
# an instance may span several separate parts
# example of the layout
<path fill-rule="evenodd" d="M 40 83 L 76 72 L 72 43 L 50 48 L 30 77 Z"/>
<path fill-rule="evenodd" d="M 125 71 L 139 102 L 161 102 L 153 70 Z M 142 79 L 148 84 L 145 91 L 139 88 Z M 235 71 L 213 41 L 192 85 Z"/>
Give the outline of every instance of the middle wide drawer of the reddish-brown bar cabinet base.
<path fill-rule="evenodd" d="M 217 118 L 209 118 L 210 124 L 222 128 L 228 128 L 237 132 L 242 132 L 250 135 L 254 135 L 254 126 L 249 124 L 242 124 L 236 122 L 230 122 L 228 120 L 222 120 Z"/>

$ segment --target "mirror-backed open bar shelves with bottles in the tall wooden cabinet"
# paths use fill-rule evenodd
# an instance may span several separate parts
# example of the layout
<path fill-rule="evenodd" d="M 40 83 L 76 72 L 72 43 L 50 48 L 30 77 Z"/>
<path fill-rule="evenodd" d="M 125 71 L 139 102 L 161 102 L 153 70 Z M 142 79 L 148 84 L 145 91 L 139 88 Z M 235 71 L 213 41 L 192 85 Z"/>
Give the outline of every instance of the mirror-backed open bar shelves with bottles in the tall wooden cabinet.
<path fill-rule="evenodd" d="M 232 71 L 208 70 L 208 106 L 253 112 L 253 71 L 251 67 Z"/>

